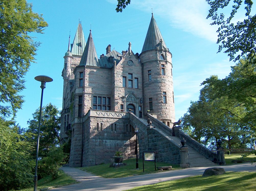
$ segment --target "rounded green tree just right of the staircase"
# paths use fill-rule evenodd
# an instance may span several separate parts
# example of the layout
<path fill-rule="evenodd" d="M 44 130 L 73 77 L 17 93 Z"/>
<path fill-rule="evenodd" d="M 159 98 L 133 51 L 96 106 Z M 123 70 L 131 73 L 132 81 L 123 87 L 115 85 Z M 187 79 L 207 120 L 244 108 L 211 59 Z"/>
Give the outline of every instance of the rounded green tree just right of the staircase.
<path fill-rule="evenodd" d="M 211 76 L 202 83 L 204 87 L 200 90 L 199 100 L 191 102 L 182 118 L 184 129 L 202 144 L 210 144 L 210 148 L 216 146 L 211 143 L 218 139 L 222 139 L 229 149 L 245 148 L 253 135 L 243 120 L 247 110 L 236 99 L 220 94 L 222 83 L 217 76 Z"/>

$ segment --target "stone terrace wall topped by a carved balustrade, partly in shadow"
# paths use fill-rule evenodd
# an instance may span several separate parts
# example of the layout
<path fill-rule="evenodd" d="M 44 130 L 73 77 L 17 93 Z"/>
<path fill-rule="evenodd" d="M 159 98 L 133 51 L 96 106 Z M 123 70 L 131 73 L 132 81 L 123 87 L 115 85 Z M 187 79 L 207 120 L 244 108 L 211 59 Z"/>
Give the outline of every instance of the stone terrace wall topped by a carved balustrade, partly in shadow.
<path fill-rule="evenodd" d="M 89 110 L 84 121 L 83 166 L 114 162 L 116 151 L 130 157 L 130 140 L 135 135 L 129 125 L 129 113 Z"/>

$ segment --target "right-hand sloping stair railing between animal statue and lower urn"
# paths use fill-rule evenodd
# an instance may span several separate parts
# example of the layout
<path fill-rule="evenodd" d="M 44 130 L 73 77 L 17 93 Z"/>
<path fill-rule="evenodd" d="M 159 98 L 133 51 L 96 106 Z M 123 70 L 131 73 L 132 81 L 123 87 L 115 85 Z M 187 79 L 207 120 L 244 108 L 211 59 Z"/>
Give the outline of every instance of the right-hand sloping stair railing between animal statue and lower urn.
<path fill-rule="evenodd" d="M 198 143 L 195 139 L 184 133 L 179 129 L 179 137 L 186 140 L 186 143 L 189 144 L 193 149 L 197 150 L 200 154 L 205 156 L 207 159 L 210 159 L 213 162 L 217 162 L 217 153 L 209 150 L 205 146 Z M 185 145 L 186 146 L 186 145 Z"/>

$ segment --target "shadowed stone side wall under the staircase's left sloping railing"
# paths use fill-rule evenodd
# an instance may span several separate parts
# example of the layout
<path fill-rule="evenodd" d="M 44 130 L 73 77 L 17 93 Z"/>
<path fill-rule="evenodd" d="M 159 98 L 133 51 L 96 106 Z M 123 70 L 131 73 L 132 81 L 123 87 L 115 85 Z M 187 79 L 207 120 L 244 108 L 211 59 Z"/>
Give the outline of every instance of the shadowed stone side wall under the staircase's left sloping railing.
<path fill-rule="evenodd" d="M 179 148 L 154 128 L 147 131 L 148 150 L 156 152 L 157 162 L 180 163 Z"/>

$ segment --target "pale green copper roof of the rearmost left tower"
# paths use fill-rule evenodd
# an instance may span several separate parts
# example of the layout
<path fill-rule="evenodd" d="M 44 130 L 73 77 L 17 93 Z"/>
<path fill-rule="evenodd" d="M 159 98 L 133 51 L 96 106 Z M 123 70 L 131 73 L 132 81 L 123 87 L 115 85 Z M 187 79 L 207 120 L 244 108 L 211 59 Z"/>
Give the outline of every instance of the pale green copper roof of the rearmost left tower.
<path fill-rule="evenodd" d="M 79 22 L 73 44 L 71 44 L 72 55 L 82 56 L 85 44 L 83 28 L 81 22 Z"/>

